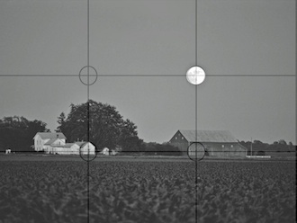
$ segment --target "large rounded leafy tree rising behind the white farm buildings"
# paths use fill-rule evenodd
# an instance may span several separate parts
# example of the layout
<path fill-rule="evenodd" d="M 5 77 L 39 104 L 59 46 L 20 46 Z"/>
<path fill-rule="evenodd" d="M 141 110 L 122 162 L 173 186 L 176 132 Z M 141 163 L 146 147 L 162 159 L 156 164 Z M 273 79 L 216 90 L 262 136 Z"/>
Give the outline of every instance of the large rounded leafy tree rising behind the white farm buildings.
<path fill-rule="evenodd" d="M 137 126 L 131 120 L 124 120 L 116 108 L 107 103 L 93 100 L 71 103 L 67 117 L 62 112 L 58 124 L 57 131 L 63 132 L 68 141 L 89 140 L 99 150 L 120 146 L 123 151 L 138 151 L 142 143 Z"/>

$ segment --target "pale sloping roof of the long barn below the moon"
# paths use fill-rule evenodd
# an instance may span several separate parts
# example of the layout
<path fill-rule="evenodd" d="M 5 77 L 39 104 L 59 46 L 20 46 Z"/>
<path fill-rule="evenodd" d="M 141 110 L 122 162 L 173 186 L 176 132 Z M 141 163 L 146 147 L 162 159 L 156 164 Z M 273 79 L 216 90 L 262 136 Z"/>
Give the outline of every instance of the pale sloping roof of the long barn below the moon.
<path fill-rule="evenodd" d="M 179 130 L 188 142 L 238 142 L 229 130 Z"/>

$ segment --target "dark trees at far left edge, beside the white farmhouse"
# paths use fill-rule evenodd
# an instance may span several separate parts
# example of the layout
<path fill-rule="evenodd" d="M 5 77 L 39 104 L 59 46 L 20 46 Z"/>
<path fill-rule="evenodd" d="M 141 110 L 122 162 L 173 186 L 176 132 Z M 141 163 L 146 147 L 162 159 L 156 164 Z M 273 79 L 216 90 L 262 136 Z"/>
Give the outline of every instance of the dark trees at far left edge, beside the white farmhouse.
<path fill-rule="evenodd" d="M 0 150 L 33 151 L 33 137 L 39 131 L 49 131 L 41 120 L 27 120 L 14 116 L 0 120 Z"/>

